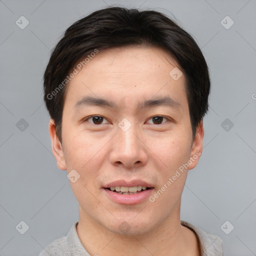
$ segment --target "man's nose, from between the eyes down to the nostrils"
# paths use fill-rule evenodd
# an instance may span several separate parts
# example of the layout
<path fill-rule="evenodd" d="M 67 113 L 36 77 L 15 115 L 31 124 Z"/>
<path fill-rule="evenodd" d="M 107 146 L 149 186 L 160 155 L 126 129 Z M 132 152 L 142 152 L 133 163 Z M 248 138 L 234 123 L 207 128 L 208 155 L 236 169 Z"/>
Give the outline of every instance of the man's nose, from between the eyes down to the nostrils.
<path fill-rule="evenodd" d="M 146 164 L 147 147 L 141 134 L 135 125 L 131 125 L 126 131 L 117 128 L 110 153 L 112 165 L 135 168 Z"/>

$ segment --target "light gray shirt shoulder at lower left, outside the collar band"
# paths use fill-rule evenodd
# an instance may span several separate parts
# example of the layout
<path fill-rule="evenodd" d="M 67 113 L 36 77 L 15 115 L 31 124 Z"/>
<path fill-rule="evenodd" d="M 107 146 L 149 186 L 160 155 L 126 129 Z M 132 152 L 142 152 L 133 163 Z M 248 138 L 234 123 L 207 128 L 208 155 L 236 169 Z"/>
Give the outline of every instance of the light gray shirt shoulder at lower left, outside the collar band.
<path fill-rule="evenodd" d="M 48 244 L 38 256 L 69 256 L 71 255 L 66 242 L 66 236 L 59 237 Z"/>

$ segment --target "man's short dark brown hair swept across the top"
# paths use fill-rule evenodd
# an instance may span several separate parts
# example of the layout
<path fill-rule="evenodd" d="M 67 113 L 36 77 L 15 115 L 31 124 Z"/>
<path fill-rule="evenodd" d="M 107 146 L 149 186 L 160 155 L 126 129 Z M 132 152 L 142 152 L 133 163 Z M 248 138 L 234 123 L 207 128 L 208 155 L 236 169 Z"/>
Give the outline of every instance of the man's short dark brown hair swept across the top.
<path fill-rule="evenodd" d="M 44 101 L 60 142 L 65 85 L 77 62 L 89 57 L 95 49 L 134 44 L 159 46 L 180 65 L 186 80 L 194 138 L 196 127 L 208 110 L 210 91 L 208 67 L 200 48 L 190 34 L 163 13 L 108 7 L 94 11 L 69 26 L 51 52 L 44 72 Z"/>

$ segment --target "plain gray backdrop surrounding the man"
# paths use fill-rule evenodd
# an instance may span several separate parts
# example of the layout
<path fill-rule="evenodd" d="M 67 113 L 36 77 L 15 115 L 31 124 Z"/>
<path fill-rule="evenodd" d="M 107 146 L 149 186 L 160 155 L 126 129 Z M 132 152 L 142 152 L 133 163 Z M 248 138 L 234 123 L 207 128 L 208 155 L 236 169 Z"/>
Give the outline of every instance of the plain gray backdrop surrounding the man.
<path fill-rule="evenodd" d="M 219 235 L 224 255 L 256 255 L 256 0 L 0 0 L 0 255 L 37 255 L 78 220 L 66 171 L 51 153 L 42 74 L 64 30 L 110 4 L 176 18 L 201 47 L 210 111 L 181 219 Z M 24 29 L 15 24 L 21 15 L 29 21 Z M 234 21 L 229 29 L 221 24 L 226 15 Z M 22 220 L 29 226 L 23 235 L 15 228 Z M 226 232 L 234 226 L 229 234 L 220 228 L 226 220 Z"/>

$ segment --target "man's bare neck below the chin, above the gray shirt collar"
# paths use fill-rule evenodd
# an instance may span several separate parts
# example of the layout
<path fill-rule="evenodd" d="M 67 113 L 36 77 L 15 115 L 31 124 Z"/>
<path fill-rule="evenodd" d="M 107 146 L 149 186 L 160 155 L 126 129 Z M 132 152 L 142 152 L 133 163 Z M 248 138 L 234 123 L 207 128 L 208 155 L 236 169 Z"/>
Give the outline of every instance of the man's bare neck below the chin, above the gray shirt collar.
<path fill-rule="evenodd" d="M 116 234 L 95 222 L 79 207 L 78 237 L 90 255 L 197 256 L 195 234 L 180 224 L 180 204 L 165 220 L 147 233 Z"/>

